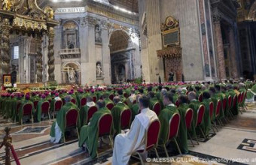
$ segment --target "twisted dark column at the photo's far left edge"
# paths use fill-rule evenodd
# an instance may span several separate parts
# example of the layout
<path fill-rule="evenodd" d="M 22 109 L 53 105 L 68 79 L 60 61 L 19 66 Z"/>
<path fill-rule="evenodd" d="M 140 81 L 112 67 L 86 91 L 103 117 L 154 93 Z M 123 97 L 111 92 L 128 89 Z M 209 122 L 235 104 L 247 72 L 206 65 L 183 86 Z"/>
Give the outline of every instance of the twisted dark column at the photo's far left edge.
<path fill-rule="evenodd" d="M 1 27 L 1 31 L 2 31 L 2 37 L 1 37 L 1 68 L 2 68 L 2 74 L 10 74 L 10 61 L 11 61 L 11 57 L 10 57 L 10 30 L 11 30 L 11 26 L 10 26 L 10 20 L 8 20 L 7 18 L 4 18 L 2 20 L 2 27 Z M 2 74 L 1 74 L 1 79 L 2 79 Z M 1 82 L 2 83 L 2 82 Z"/>

